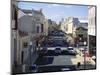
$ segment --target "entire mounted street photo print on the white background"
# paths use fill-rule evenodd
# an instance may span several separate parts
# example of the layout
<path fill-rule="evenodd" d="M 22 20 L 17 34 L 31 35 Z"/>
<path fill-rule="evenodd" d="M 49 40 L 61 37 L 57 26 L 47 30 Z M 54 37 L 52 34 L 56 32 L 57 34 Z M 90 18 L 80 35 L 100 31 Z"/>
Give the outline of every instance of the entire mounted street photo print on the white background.
<path fill-rule="evenodd" d="M 96 69 L 96 7 L 12 1 L 13 74 Z"/>

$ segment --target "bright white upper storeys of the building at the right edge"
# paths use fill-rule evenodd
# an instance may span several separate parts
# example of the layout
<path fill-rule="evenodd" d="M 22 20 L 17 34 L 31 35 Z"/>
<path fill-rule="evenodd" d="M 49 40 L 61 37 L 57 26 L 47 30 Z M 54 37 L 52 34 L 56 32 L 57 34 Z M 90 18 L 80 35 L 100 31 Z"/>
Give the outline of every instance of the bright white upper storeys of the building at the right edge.
<path fill-rule="evenodd" d="M 89 6 L 88 10 L 88 34 L 96 36 L 96 7 Z"/>

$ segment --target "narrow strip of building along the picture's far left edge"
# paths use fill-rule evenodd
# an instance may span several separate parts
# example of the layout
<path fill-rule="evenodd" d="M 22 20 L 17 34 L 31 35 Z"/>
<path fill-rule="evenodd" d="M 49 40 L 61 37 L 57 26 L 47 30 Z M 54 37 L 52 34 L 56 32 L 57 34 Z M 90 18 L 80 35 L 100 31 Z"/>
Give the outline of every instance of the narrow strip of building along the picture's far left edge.
<path fill-rule="evenodd" d="M 11 14 L 11 68 L 13 73 L 18 62 L 18 14 L 15 0 L 11 1 Z"/>

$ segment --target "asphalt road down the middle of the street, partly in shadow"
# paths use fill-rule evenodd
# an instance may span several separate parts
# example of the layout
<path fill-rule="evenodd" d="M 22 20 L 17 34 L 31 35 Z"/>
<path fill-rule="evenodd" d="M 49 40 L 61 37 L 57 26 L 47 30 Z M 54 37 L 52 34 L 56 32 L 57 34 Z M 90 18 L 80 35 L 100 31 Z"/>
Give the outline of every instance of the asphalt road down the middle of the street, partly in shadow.
<path fill-rule="evenodd" d="M 52 41 L 44 41 L 41 46 L 43 47 L 68 47 L 68 43 L 65 42 L 64 34 L 58 35 L 59 32 L 52 35 Z M 50 36 L 49 35 L 49 36 Z M 53 38 L 53 36 L 56 38 Z M 60 37 L 60 38 L 59 38 Z M 45 50 L 46 51 L 46 50 Z M 81 53 L 80 53 L 81 54 Z M 80 67 L 77 68 L 78 63 L 80 62 Z M 69 53 L 64 50 L 56 53 L 55 50 L 48 50 L 46 52 L 39 51 L 39 57 L 33 63 L 37 65 L 37 72 L 56 72 L 56 71 L 73 71 L 81 69 L 95 69 L 94 65 L 85 65 L 84 67 L 84 57 L 76 54 Z"/>

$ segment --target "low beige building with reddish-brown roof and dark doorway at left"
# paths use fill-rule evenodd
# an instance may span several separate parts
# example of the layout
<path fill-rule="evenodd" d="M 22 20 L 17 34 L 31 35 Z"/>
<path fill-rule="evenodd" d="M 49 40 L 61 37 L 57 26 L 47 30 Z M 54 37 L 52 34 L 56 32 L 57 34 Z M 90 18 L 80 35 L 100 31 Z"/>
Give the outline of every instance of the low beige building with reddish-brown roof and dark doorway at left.
<path fill-rule="evenodd" d="M 28 33 L 20 31 L 18 40 L 18 63 L 23 64 L 29 57 L 30 36 Z"/>

